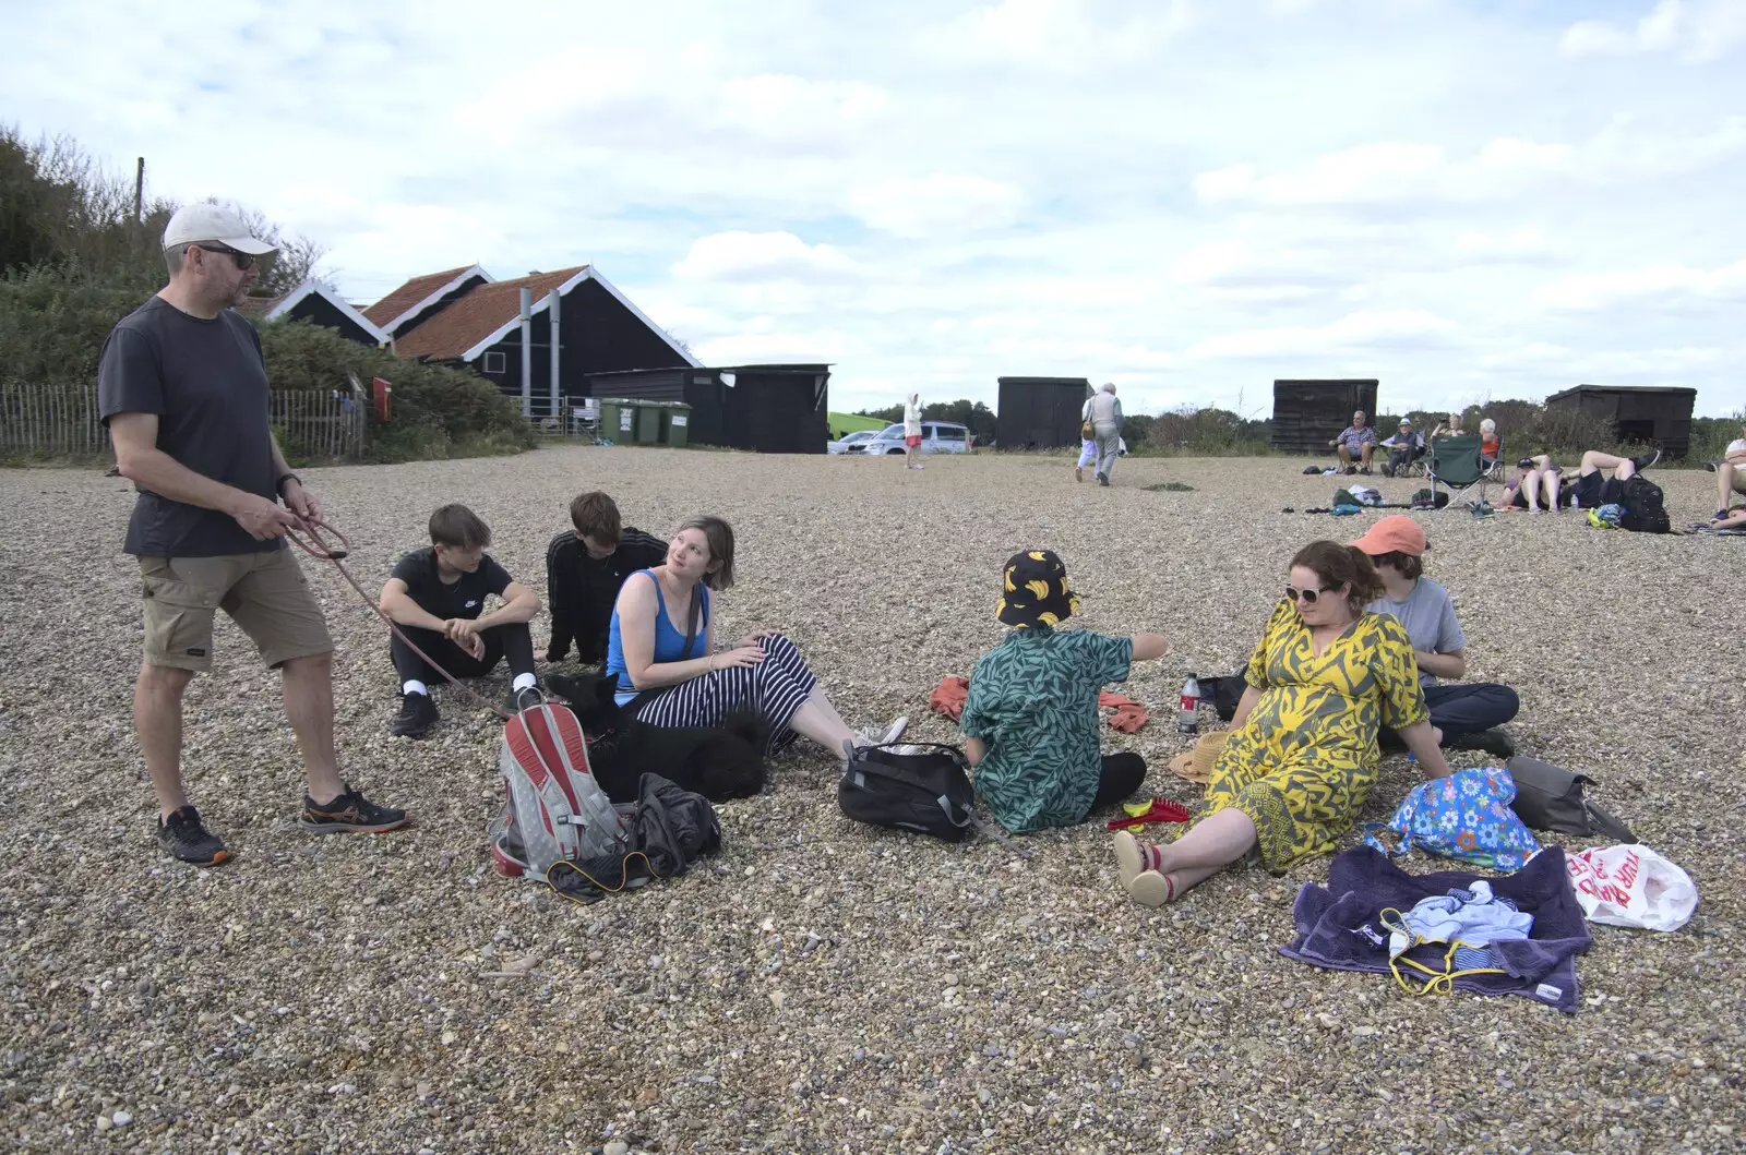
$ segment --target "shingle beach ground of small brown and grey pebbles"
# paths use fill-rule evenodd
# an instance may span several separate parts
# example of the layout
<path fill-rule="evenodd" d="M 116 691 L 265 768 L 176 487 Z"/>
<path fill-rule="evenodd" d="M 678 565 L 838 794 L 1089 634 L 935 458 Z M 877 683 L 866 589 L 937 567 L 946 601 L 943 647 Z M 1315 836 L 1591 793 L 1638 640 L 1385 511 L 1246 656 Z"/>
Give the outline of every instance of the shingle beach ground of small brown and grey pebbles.
<path fill-rule="evenodd" d="M 723 632 L 789 632 L 850 724 L 906 712 L 999 637 L 1000 562 L 1053 546 L 1083 625 L 1159 630 L 1128 693 L 1159 712 L 1112 747 L 1165 762 L 1189 668 L 1240 666 L 1296 546 L 1353 536 L 1332 478 L 1292 461 L 889 461 L 548 448 L 519 459 L 307 469 L 381 583 L 428 511 L 466 501 L 543 588 L 581 490 L 663 532 L 714 511 L 740 536 Z M 1193 492 L 1147 490 L 1177 480 Z M 1659 471 L 1674 522 L 1713 476 Z M 1406 495 L 1416 483 L 1381 482 Z M 1746 881 L 1739 574 L 1746 543 L 1591 530 L 1575 516 L 1426 516 L 1470 672 L 1512 682 L 1517 743 L 1592 773 L 1704 900 L 1680 933 L 1596 926 L 1584 1005 L 1409 998 L 1386 977 L 1280 958 L 1299 885 L 1231 871 L 1152 912 L 1116 885 L 1102 825 L 946 846 L 857 829 L 833 764 L 791 754 L 721 808 L 725 850 L 592 907 L 485 867 L 491 717 L 445 707 L 386 736 L 384 632 L 306 562 L 339 651 L 349 776 L 416 810 L 375 839 L 293 827 L 300 769 L 276 679 L 220 626 L 189 694 L 196 801 L 239 860 L 199 872 L 150 839 L 131 736 L 136 571 L 127 485 L 0 473 L 12 576 L 0 666 L 7 923 L 0 1146 L 30 1152 L 623 1150 L 1741 1150 Z M 1723 579 L 1729 574 L 1729 579 Z M 1729 605 L 1736 605 L 1729 611 Z M 1734 621 L 1734 626 L 1727 623 Z M 536 623 L 536 633 L 543 619 Z M 543 639 L 540 639 L 543 642 Z M 492 693 L 501 682 L 492 682 Z M 1474 761 L 1481 755 L 1472 755 Z M 1460 764 L 1460 762 L 1458 762 Z M 1385 764 L 1371 815 L 1413 775 Z M 1419 858 L 1414 869 L 1430 869 Z"/>

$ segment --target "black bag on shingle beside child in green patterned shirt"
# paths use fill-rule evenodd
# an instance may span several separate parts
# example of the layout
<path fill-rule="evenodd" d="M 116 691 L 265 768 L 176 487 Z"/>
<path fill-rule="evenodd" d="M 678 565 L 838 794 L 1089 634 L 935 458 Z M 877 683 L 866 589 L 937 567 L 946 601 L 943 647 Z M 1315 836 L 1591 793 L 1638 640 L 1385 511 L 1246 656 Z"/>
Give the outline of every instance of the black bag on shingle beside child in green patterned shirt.
<path fill-rule="evenodd" d="M 976 830 L 976 792 L 964 752 L 939 743 L 859 747 L 836 787 L 836 804 L 856 822 L 918 830 L 962 843 Z"/>

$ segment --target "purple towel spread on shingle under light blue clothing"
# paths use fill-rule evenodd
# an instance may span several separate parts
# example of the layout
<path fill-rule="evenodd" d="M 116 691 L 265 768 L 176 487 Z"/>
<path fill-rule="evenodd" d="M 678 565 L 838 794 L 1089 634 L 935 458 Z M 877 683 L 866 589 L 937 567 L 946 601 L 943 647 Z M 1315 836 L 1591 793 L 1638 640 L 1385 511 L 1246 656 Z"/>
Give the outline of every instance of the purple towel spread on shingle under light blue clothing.
<path fill-rule="evenodd" d="M 1332 970 L 1371 970 L 1388 974 L 1388 947 L 1372 946 L 1358 933 L 1360 926 L 1381 930 L 1378 914 L 1385 907 L 1409 911 L 1419 899 L 1444 895 L 1465 888 L 1481 874 L 1465 871 L 1439 871 L 1437 874 L 1407 874 L 1378 850 L 1353 846 L 1334 858 L 1327 886 L 1304 883 L 1292 907 L 1297 937 L 1280 954 Z M 1517 909 L 1533 914 L 1533 932 L 1526 940 L 1496 942 L 1488 947 L 1502 975 L 1463 975 L 1454 984 L 1481 994 L 1526 994 L 1564 1012 L 1577 1010 L 1577 954 L 1592 942 L 1589 925 L 1577 906 L 1564 871 L 1564 851 L 1547 846 L 1516 874 L 1488 878 L 1500 899 L 1509 899 Z M 1386 932 L 1385 932 L 1386 933 Z M 1440 968 L 1442 947 L 1435 951 Z M 1425 960 L 1423 953 L 1413 953 Z M 1428 960 L 1425 960 L 1428 961 Z"/>

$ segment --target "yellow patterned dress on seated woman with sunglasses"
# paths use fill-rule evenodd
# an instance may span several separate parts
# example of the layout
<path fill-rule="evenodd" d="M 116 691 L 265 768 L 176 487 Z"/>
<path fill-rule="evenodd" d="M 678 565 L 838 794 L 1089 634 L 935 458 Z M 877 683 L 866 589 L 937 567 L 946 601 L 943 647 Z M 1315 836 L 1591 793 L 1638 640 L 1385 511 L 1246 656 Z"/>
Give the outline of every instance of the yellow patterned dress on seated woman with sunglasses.
<path fill-rule="evenodd" d="M 1376 783 L 1376 728 L 1430 717 L 1406 630 L 1362 614 L 1320 658 L 1297 607 L 1280 602 L 1243 680 L 1261 691 L 1213 764 L 1206 801 L 1255 824 L 1261 862 L 1323 855 Z"/>

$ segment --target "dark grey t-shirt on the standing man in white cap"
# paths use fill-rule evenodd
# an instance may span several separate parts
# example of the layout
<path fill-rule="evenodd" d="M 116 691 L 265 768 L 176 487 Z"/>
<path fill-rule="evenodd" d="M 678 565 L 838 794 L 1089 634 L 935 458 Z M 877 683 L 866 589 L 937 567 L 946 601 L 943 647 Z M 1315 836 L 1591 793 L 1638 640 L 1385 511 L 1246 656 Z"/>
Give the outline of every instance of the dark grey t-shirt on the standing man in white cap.
<path fill-rule="evenodd" d="M 115 413 L 157 413 L 157 448 L 194 473 L 278 501 L 260 335 L 234 309 L 204 321 L 154 297 L 129 312 L 103 342 L 98 407 L 105 424 Z M 255 541 L 227 513 L 141 489 L 124 550 L 220 557 L 283 544 Z"/>

